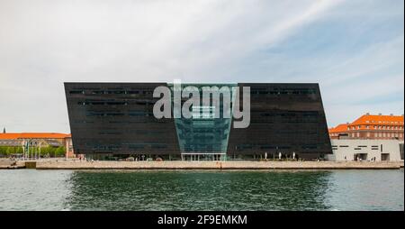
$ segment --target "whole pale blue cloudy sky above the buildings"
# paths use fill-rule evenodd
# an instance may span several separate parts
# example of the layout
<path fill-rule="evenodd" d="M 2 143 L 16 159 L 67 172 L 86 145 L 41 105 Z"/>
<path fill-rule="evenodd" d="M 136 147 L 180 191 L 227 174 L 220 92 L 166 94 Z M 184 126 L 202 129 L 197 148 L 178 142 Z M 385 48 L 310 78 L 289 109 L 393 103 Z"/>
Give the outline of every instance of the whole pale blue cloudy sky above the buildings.
<path fill-rule="evenodd" d="M 69 133 L 63 82 L 319 83 L 404 114 L 403 0 L 0 0 L 0 127 Z M 3 128 L 2 128 L 3 129 Z"/>

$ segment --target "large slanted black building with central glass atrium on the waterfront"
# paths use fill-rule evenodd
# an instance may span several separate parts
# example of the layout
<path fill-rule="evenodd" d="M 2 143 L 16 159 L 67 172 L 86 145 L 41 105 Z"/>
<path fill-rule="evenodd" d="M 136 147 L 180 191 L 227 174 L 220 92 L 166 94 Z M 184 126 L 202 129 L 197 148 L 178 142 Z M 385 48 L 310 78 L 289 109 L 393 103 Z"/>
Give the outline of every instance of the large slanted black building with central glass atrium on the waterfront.
<path fill-rule="evenodd" d="M 154 96 L 157 87 L 171 92 L 171 114 L 163 118 L 154 114 L 154 106 L 162 99 Z M 230 92 L 230 113 L 235 112 L 235 104 L 240 105 L 238 109 L 247 108 L 241 91 L 248 87 L 248 125 L 235 128 L 240 117 L 224 115 L 223 95 L 218 103 L 191 105 L 192 116 L 184 117 L 174 115 L 175 84 L 65 83 L 75 153 L 94 159 L 137 160 L 271 160 L 279 156 L 311 160 L 332 153 L 318 84 L 180 86 L 188 87 L 201 95 L 204 88 L 229 88 L 221 91 Z M 190 97 L 180 95 L 177 101 L 182 107 Z M 212 115 L 217 110 L 219 117 Z"/>

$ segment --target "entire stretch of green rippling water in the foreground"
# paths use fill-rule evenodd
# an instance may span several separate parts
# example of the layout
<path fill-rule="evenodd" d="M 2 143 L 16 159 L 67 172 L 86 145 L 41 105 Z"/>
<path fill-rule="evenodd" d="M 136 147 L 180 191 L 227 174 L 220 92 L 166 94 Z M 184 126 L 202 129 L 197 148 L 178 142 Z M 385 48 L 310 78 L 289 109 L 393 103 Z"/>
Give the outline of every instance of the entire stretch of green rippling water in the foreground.
<path fill-rule="evenodd" d="M 0 210 L 404 210 L 404 172 L 0 170 Z"/>

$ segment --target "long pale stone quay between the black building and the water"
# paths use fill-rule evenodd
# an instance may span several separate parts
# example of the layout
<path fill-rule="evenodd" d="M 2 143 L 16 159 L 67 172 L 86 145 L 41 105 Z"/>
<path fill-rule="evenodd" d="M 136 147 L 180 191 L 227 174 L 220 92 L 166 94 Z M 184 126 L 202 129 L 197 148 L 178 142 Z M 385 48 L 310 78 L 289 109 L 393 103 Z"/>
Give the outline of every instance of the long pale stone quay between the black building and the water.
<path fill-rule="evenodd" d="M 401 169 L 400 162 L 370 161 L 47 161 L 36 169 Z"/>

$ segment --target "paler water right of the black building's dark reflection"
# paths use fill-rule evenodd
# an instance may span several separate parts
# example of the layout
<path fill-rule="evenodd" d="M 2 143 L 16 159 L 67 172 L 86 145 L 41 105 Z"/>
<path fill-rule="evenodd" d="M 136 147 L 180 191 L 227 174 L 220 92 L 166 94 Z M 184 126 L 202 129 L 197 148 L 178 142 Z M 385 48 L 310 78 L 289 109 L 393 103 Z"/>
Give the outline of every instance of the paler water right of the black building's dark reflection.
<path fill-rule="evenodd" d="M 404 210 L 403 169 L 339 170 L 329 179 L 325 200 L 335 210 Z"/>

